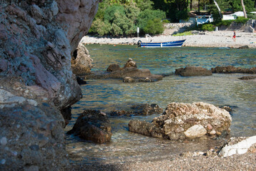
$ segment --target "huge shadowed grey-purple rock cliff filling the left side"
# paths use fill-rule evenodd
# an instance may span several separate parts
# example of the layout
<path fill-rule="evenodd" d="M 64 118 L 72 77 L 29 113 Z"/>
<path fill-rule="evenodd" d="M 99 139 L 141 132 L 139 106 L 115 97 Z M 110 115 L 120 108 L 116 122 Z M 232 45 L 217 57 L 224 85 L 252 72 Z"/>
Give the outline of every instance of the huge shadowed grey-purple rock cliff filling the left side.
<path fill-rule="evenodd" d="M 99 1 L 0 2 L 0 170 L 68 165 L 60 110 L 82 97 L 71 56 Z"/>

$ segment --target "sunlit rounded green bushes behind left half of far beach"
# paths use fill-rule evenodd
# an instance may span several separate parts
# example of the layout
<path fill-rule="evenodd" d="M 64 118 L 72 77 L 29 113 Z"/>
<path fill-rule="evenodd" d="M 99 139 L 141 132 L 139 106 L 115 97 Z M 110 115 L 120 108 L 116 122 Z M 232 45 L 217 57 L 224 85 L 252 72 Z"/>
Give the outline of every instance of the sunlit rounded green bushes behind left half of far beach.
<path fill-rule="evenodd" d="M 137 33 L 137 27 L 140 33 L 162 33 L 165 13 L 159 9 L 153 10 L 152 4 L 150 0 L 102 1 L 89 33 L 132 36 Z"/>

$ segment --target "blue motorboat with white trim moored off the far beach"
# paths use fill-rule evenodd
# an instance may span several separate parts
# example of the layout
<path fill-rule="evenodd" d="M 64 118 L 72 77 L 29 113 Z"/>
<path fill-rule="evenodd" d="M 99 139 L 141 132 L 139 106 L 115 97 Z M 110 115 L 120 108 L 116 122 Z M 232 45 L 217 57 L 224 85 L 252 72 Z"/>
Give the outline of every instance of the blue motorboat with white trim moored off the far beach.
<path fill-rule="evenodd" d="M 186 41 L 186 39 L 180 40 L 180 41 L 167 41 L 167 42 L 159 42 L 159 43 L 144 43 L 142 41 L 138 41 L 137 45 L 138 47 L 143 48 L 169 48 L 169 47 L 181 47 L 182 44 Z"/>

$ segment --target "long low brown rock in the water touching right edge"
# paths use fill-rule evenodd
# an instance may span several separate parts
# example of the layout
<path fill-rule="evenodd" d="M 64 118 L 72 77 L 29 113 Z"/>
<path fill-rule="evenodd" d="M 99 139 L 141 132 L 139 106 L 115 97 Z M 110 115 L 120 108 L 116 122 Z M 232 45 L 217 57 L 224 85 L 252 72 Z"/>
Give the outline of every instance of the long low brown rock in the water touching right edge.
<path fill-rule="evenodd" d="M 255 68 L 240 68 L 235 66 L 217 66 L 212 68 L 212 73 L 256 73 Z"/>

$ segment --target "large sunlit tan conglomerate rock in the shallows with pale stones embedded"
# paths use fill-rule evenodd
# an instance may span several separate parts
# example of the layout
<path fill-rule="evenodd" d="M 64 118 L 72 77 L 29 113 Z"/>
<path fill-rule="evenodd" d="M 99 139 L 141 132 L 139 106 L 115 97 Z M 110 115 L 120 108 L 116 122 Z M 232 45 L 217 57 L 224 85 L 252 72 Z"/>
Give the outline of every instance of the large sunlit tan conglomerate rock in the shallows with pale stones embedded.
<path fill-rule="evenodd" d="M 208 103 L 170 103 L 152 123 L 131 120 L 129 130 L 169 140 L 191 140 L 204 135 L 214 138 L 230 133 L 231 120 L 226 110 Z"/>

